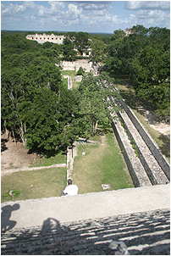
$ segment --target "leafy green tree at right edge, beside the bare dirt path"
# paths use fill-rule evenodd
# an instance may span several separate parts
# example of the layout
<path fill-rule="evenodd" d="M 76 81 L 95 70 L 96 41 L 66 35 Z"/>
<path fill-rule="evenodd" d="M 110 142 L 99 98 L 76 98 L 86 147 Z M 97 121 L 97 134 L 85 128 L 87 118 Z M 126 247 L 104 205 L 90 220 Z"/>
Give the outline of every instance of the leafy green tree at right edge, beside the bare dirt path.
<path fill-rule="evenodd" d="M 169 51 L 146 46 L 133 62 L 132 81 L 136 94 L 156 106 L 157 114 L 169 116 Z"/>

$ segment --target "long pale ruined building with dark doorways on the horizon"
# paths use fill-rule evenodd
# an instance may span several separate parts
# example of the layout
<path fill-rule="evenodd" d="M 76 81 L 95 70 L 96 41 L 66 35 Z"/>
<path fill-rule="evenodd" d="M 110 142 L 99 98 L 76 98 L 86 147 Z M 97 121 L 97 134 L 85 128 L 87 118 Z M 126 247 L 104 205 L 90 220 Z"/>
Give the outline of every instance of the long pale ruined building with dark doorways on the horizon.
<path fill-rule="evenodd" d="M 44 42 L 53 42 L 53 43 L 58 43 L 62 44 L 63 39 L 65 36 L 56 36 L 56 35 L 46 35 L 45 33 L 43 35 L 41 34 L 35 34 L 35 35 L 27 35 L 26 39 L 36 41 L 38 43 L 44 43 Z"/>

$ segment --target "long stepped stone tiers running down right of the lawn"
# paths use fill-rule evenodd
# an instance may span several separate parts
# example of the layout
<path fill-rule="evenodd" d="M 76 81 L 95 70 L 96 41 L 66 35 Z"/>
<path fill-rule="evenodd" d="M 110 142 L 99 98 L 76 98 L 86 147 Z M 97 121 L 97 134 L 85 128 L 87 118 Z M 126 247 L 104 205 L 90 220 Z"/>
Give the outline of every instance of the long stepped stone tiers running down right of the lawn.
<path fill-rule="evenodd" d="M 151 136 L 147 134 L 123 99 L 116 101 L 113 97 L 109 97 L 109 100 L 123 108 L 123 111 L 111 113 L 112 125 L 134 185 L 151 186 L 169 183 L 169 164 Z"/>

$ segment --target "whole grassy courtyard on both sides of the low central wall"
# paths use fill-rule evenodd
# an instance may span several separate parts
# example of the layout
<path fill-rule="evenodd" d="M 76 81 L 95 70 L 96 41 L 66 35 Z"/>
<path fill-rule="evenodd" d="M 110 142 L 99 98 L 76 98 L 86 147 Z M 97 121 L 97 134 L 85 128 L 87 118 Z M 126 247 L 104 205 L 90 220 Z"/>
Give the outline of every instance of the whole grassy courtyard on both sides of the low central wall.
<path fill-rule="evenodd" d="M 109 184 L 109 190 L 133 187 L 130 174 L 124 163 L 113 132 L 103 137 L 95 136 L 98 144 L 78 144 L 78 156 L 74 158 L 74 184 L 79 193 L 102 192 L 102 184 Z M 85 152 L 85 155 L 82 153 Z M 41 159 L 36 165 L 51 165 L 54 162 L 66 163 L 66 156 Z M 1 179 L 2 203 L 11 200 L 59 197 L 66 186 L 66 169 L 50 168 L 42 170 L 19 171 L 4 175 Z M 15 193 L 14 198 L 9 192 Z"/>

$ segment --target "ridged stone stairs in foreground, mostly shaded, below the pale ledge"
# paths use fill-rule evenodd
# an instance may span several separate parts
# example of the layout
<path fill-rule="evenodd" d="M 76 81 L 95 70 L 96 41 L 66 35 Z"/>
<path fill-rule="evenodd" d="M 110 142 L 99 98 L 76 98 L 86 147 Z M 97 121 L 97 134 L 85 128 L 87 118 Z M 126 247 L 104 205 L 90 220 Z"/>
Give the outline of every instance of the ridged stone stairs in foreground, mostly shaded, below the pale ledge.
<path fill-rule="evenodd" d="M 169 209 L 6 231 L 2 255 L 105 255 L 122 241 L 130 255 L 170 255 Z"/>

